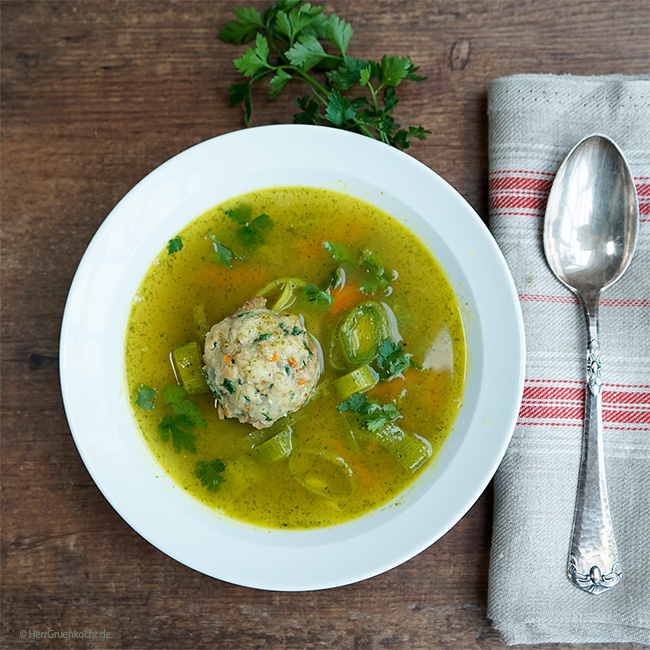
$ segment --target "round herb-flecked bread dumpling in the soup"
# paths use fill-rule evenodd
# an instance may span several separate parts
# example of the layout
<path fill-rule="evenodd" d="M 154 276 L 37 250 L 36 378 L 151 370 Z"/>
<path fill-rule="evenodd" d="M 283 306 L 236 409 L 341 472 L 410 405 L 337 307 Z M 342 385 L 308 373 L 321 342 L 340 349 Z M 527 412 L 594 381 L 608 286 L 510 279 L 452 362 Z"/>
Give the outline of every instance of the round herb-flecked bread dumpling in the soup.
<path fill-rule="evenodd" d="M 210 329 L 203 370 L 219 417 L 264 429 L 305 404 L 318 382 L 319 357 L 298 316 L 266 309 L 257 296 Z"/>

